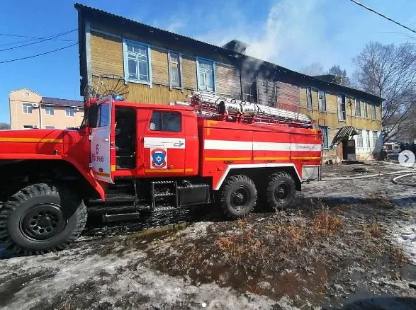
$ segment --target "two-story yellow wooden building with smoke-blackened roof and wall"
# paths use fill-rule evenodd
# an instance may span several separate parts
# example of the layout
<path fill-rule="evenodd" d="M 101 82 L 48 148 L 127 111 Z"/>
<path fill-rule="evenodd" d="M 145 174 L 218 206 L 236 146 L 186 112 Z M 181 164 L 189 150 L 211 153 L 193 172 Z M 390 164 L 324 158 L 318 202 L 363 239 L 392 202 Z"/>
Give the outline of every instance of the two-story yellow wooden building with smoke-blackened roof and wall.
<path fill-rule="evenodd" d="M 223 47 L 75 4 L 81 95 L 97 79 L 124 76 L 128 101 L 184 101 L 192 91 L 311 115 L 325 133 L 325 159 L 370 159 L 381 147 L 381 102 L 370 93 L 300 74 Z"/>

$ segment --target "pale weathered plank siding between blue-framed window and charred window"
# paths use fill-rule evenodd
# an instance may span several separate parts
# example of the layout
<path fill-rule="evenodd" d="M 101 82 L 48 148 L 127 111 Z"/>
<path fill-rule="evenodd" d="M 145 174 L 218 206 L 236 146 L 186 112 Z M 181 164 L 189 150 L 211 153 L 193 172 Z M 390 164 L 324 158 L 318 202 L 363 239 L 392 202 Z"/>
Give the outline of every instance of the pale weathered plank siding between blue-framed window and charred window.
<path fill-rule="evenodd" d="M 216 93 L 240 99 L 240 71 L 234 67 L 215 64 Z"/>

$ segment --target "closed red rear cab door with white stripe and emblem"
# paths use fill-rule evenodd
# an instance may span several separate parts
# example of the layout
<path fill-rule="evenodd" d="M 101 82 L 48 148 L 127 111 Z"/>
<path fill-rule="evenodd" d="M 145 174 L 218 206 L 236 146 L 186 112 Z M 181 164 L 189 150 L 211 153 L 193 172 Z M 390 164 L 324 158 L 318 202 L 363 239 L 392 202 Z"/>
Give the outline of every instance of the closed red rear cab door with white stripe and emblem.
<path fill-rule="evenodd" d="M 152 110 L 142 139 L 145 176 L 185 175 L 185 126 L 181 111 Z"/>

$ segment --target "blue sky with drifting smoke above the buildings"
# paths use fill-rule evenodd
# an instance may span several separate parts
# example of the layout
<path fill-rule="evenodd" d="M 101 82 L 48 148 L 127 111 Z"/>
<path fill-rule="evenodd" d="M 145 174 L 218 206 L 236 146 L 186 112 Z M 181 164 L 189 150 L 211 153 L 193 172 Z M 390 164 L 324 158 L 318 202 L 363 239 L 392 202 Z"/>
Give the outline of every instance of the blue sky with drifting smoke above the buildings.
<path fill-rule="evenodd" d="M 416 29 L 416 1 L 361 0 Z M 3 1 L 0 33 L 47 37 L 77 28 L 77 11 L 68 0 Z M 366 42 L 400 44 L 416 35 L 348 0 L 153 1 L 83 0 L 142 23 L 213 44 L 237 38 L 248 53 L 290 69 L 319 62 L 339 64 L 352 74 L 352 57 Z M 0 50 L 29 40 L 0 35 Z M 0 51 L 0 62 L 39 54 L 77 42 L 77 32 L 14 50 Z M 27 42 L 21 43 L 26 44 Z M 81 99 L 77 46 L 45 56 L 0 64 L 0 122 L 9 122 L 9 91 L 27 87 L 43 96 Z"/>

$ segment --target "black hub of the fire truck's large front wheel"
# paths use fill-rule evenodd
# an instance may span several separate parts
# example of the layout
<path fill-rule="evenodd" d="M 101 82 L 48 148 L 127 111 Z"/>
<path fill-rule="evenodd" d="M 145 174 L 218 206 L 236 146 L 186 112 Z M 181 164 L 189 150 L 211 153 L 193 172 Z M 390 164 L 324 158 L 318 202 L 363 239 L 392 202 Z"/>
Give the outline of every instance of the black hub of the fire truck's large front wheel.
<path fill-rule="evenodd" d="M 22 233 L 30 239 L 46 240 L 60 234 L 67 226 L 67 218 L 58 205 L 35 205 L 23 214 Z"/>

